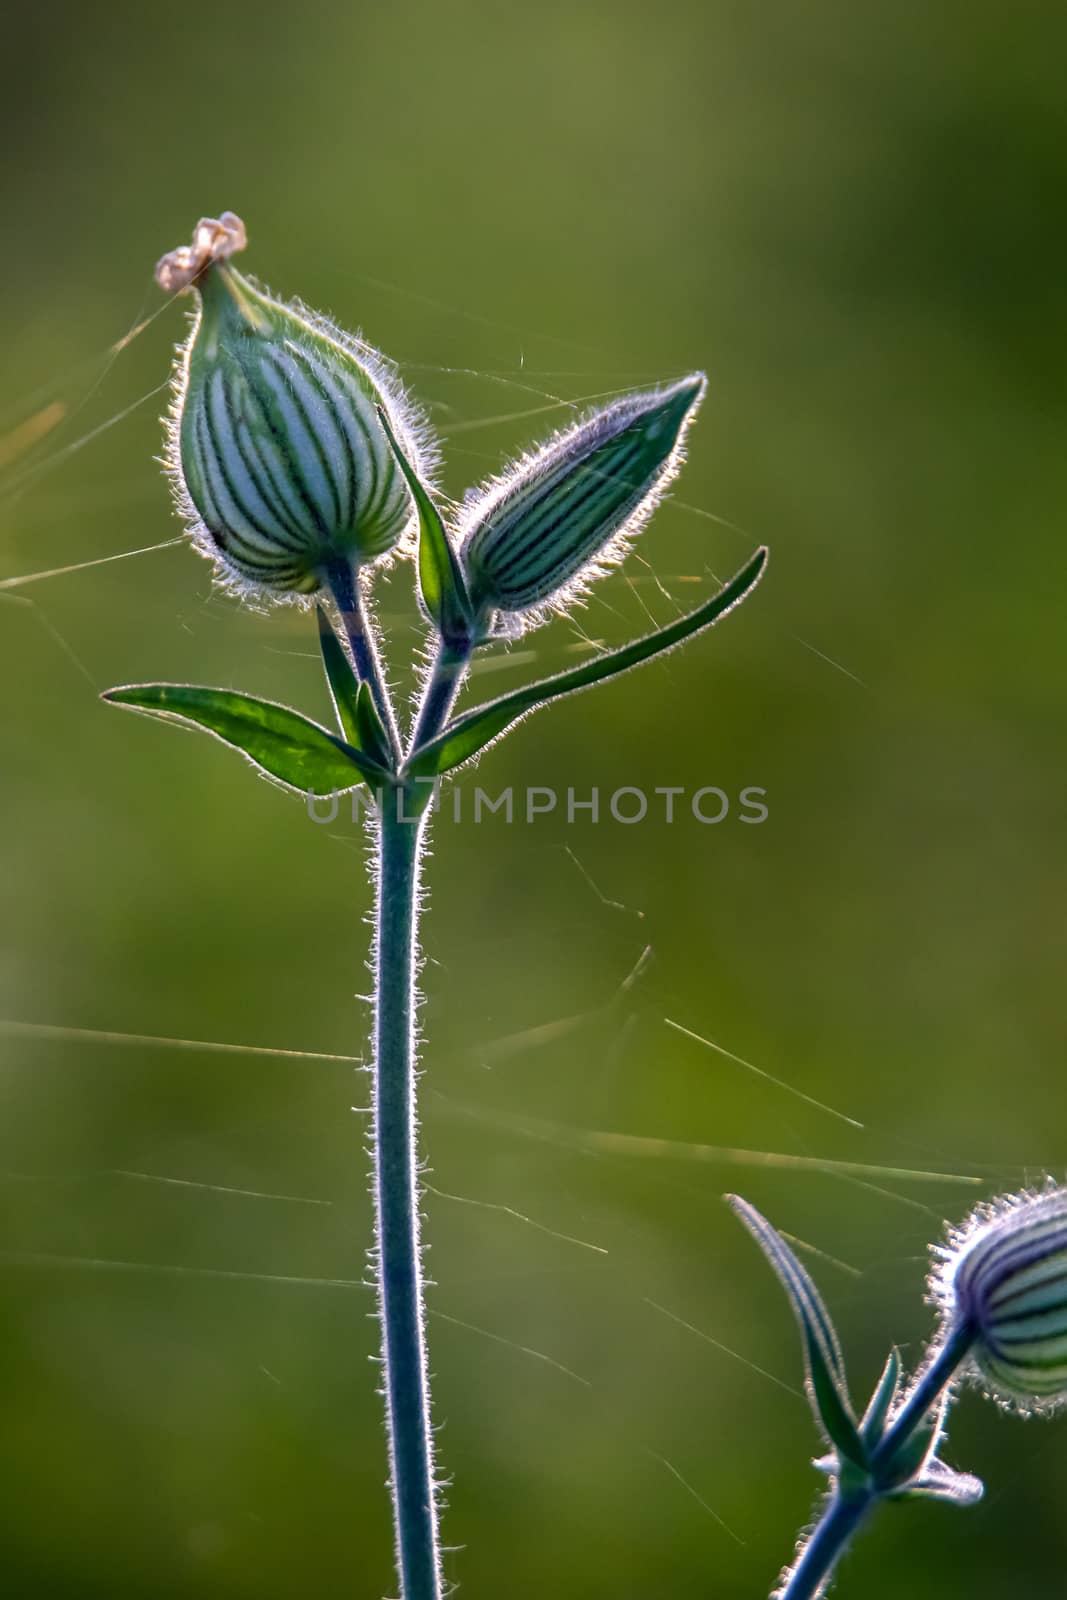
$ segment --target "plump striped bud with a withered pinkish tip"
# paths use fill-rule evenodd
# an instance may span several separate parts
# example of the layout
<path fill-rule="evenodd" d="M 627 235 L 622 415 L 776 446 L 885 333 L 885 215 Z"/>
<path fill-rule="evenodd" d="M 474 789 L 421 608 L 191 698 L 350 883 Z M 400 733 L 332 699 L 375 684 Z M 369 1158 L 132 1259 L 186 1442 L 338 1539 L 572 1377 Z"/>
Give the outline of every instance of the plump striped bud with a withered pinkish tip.
<path fill-rule="evenodd" d="M 168 466 L 195 542 L 230 587 L 312 594 L 331 570 L 403 539 L 411 498 L 376 408 L 426 472 L 421 424 L 378 352 L 243 278 L 229 261 L 243 248 L 226 211 L 155 269 L 163 290 L 198 298 Z"/>

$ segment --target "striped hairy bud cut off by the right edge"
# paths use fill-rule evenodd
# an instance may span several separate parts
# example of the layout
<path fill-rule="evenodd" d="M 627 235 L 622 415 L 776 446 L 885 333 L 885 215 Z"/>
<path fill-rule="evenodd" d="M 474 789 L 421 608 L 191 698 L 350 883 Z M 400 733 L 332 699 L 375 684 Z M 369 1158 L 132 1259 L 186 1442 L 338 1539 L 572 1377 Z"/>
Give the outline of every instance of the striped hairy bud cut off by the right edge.
<path fill-rule="evenodd" d="M 1067 1189 L 979 1206 L 937 1251 L 931 1291 L 945 1330 L 973 1333 L 971 1374 L 1001 1405 L 1067 1402 Z"/>

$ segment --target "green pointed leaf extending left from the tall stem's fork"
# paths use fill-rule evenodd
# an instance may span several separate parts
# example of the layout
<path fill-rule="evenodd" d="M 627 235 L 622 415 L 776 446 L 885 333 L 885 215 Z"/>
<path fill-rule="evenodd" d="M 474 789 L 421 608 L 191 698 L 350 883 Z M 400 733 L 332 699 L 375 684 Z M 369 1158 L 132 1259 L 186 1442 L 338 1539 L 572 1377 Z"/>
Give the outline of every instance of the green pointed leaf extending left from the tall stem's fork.
<path fill-rule="evenodd" d="M 112 706 L 184 722 L 240 750 L 270 778 L 301 794 L 328 795 L 355 789 L 365 779 L 371 787 L 389 774 L 360 750 L 336 739 L 317 722 L 288 706 L 254 699 L 234 690 L 202 690 L 187 683 L 130 683 L 107 690 L 101 699 Z"/>

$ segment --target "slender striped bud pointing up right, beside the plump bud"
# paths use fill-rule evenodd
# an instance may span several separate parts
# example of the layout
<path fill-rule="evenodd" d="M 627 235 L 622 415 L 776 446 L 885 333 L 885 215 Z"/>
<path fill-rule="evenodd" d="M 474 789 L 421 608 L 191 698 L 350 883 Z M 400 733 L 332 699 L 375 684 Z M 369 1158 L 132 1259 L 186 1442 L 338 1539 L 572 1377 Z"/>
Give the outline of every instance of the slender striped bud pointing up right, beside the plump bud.
<path fill-rule="evenodd" d="M 477 491 L 459 530 L 474 605 L 520 632 L 621 560 L 681 464 L 704 389 L 696 373 L 616 400 Z"/>

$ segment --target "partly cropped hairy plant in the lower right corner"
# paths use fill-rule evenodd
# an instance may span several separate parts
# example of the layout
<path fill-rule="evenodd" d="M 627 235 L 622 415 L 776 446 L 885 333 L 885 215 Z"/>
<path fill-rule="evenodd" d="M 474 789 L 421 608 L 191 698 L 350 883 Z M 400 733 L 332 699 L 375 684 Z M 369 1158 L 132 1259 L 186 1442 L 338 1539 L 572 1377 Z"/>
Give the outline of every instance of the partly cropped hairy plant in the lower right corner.
<path fill-rule="evenodd" d="M 889 1352 L 862 1416 L 853 1410 L 830 1314 L 811 1277 L 755 1206 L 728 1195 L 792 1302 L 806 1390 L 829 1453 L 816 1461 L 830 1486 L 797 1560 L 771 1600 L 817 1600 L 853 1534 L 883 1501 L 974 1506 L 979 1478 L 941 1459 L 945 1413 L 961 1381 L 1005 1410 L 1048 1414 L 1067 1405 L 1067 1189 L 981 1205 L 933 1246 L 929 1299 L 941 1322 L 910 1382 Z"/>

